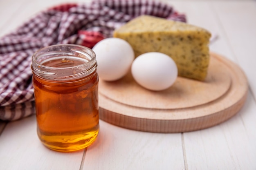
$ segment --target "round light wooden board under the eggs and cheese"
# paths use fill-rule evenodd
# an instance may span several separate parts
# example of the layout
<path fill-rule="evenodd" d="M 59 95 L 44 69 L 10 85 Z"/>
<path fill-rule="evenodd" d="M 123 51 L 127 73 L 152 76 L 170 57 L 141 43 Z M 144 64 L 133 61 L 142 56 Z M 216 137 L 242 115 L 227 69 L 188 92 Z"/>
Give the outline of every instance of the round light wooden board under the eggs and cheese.
<path fill-rule="evenodd" d="M 248 91 L 241 68 L 211 53 L 207 78 L 178 77 L 164 91 L 139 86 L 129 73 L 115 82 L 99 81 L 100 119 L 147 132 L 187 132 L 220 124 L 243 106 Z"/>

